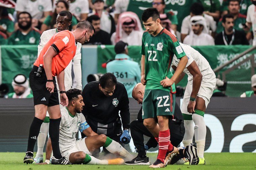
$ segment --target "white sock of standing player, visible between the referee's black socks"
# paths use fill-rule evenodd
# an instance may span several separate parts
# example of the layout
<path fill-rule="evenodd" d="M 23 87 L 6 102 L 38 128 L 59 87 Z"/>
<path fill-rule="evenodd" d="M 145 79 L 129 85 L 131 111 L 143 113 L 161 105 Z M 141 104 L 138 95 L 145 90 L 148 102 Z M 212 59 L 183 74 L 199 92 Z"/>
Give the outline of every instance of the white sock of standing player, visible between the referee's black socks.
<path fill-rule="evenodd" d="M 44 147 L 44 144 L 45 144 L 45 139 L 48 135 L 48 131 L 49 131 L 49 123 L 42 123 L 41 128 L 40 128 L 40 132 L 39 132 L 38 137 L 37 137 L 36 156 L 37 155 L 43 155 L 43 147 Z"/>

